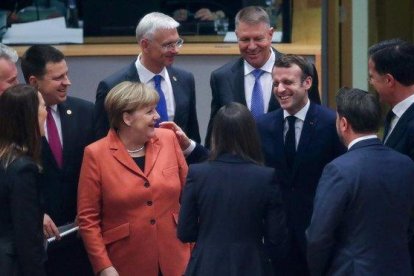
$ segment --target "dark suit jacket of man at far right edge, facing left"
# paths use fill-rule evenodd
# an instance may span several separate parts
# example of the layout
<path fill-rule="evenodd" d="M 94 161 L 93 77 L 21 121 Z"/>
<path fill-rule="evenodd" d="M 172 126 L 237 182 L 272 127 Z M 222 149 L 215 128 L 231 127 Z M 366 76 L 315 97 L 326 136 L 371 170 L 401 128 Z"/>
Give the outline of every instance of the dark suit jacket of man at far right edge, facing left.
<path fill-rule="evenodd" d="M 414 104 L 398 120 L 385 145 L 414 160 Z"/>

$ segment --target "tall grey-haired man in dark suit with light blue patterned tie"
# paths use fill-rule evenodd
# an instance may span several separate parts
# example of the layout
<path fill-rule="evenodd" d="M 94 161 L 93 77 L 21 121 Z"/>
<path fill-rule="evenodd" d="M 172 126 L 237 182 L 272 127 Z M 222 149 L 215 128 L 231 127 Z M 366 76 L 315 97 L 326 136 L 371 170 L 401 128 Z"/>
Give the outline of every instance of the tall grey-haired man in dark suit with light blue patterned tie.
<path fill-rule="evenodd" d="M 270 26 L 268 14 L 261 7 L 250 6 L 240 10 L 235 21 L 241 57 L 211 73 L 213 98 L 205 140 L 207 146 L 210 144 L 214 116 L 223 105 L 230 102 L 241 103 L 254 116 L 280 107 L 272 94 L 272 68 L 283 54 L 272 48 L 273 28 Z M 258 74 L 257 78 L 255 74 Z M 315 67 L 311 75 L 313 82 L 309 89 L 309 98 L 320 104 Z M 256 84 L 260 85 L 260 90 L 255 89 Z"/>

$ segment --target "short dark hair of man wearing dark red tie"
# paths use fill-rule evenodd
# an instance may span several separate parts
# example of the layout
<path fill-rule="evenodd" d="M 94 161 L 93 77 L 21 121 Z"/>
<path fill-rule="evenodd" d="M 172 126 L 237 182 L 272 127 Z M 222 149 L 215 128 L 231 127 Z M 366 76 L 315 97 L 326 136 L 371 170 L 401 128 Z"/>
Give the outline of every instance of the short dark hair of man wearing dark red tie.
<path fill-rule="evenodd" d="M 49 62 L 57 63 L 65 59 L 61 51 L 50 45 L 33 45 L 26 50 L 22 57 L 22 72 L 26 83 L 30 76 L 43 78 L 46 74 L 46 65 Z"/>

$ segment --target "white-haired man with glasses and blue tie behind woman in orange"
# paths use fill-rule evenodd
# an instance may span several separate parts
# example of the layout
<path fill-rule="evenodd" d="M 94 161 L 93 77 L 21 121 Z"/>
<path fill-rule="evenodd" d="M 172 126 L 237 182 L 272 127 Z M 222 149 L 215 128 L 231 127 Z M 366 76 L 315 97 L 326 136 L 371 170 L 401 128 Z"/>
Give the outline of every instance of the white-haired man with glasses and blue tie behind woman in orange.
<path fill-rule="evenodd" d="M 174 121 L 191 139 L 200 142 L 194 76 L 172 66 L 178 49 L 183 45 L 178 36 L 178 26 L 177 21 L 158 12 L 147 14 L 138 23 L 136 37 L 141 54 L 133 63 L 98 85 L 94 119 L 96 138 L 105 136 L 109 129 L 104 108 L 108 92 L 122 81 L 135 81 L 161 88 L 157 89 L 160 94 L 157 111 L 161 121 Z"/>

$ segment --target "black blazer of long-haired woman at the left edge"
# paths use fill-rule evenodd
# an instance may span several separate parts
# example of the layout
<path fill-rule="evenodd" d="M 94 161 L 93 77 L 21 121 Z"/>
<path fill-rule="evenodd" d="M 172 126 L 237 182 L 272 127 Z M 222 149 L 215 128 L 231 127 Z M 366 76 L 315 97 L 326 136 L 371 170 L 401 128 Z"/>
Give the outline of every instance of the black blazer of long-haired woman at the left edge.
<path fill-rule="evenodd" d="M 19 157 L 0 166 L 0 274 L 46 275 L 39 168 Z"/>

